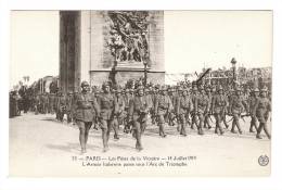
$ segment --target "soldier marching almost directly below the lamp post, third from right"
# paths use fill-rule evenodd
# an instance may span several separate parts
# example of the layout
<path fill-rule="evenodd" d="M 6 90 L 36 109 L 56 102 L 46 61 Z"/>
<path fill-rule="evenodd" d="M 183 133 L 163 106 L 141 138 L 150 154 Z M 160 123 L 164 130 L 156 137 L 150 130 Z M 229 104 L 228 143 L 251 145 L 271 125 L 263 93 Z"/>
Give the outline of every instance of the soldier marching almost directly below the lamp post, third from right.
<path fill-rule="evenodd" d="M 242 134 L 242 129 L 240 127 L 240 117 L 241 117 L 241 113 L 243 112 L 244 107 L 247 107 L 246 102 L 243 100 L 243 98 L 241 97 L 241 89 L 238 87 L 235 89 L 235 96 L 232 98 L 231 102 L 230 102 L 230 115 L 232 115 L 233 117 L 233 122 L 232 122 L 232 128 L 231 128 L 231 132 L 236 134 L 235 131 L 235 126 L 238 127 L 239 134 Z M 248 112 L 248 111 L 246 111 Z"/>

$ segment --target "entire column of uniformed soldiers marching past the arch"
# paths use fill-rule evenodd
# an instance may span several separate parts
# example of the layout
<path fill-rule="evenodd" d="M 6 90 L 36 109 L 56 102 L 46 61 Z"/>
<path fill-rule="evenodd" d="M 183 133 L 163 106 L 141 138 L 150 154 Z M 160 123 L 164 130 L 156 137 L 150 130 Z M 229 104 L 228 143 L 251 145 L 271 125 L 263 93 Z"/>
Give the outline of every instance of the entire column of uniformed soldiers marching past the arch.
<path fill-rule="evenodd" d="M 211 124 L 215 125 L 215 134 L 223 135 L 222 125 L 228 129 L 228 124 L 232 122 L 230 131 L 242 135 L 240 121 L 249 116 L 249 132 L 256 130 L 256 138 L 261 139 L 260 132 L 264 130 L 271 138 L 267 127 L 271 103 L 266 87 L 243 94 L 239 86 L 225 90 L 221 86 L 196 84 L 192 84 L 192 87 L 156 85 L 145 88 L 140 84 L 136 88 L 121 89 L 118 86 L 112 88 L 110 83 L 104 83 L 102 89 L 92 88 L 91 91 L 89 84 L 82 81 L 80 92 L 37 94 L 31 107 L 35 114 L 55 113 L 56 119 L 61 122 L 66 115 L 67 123 L 77 125 L 81 153 L 86 153 L 88 134 L 92 126 L 102 129 L 105 152 L 108 150 L 111 130 L 114 130 L 114 139 L 119 139 L 120 125 L 124 126 L 124 132 L 132 134 L 136 149 L 141 151 L 141 136 L 150 121 L 152 125 L 158 126 L 162 138 L 166 137 L 166 124 L 176 126 L 176 130 L 185 137 L 188 126 L 203 136 L 203 129 L 210 129 Z M 231 116 L 230 121 L 227 121 L 227 115 Z"/>

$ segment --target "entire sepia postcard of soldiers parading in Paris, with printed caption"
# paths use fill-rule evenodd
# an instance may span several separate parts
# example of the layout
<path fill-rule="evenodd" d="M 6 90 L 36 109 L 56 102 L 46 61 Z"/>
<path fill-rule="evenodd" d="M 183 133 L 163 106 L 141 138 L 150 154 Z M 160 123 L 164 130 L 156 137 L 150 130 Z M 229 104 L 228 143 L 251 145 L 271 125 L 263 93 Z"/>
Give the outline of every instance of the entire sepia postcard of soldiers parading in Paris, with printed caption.
<path fill-rule="evenodd" d="M 9 176 L 269 177 L 272 20 L 10 11 Z"/>

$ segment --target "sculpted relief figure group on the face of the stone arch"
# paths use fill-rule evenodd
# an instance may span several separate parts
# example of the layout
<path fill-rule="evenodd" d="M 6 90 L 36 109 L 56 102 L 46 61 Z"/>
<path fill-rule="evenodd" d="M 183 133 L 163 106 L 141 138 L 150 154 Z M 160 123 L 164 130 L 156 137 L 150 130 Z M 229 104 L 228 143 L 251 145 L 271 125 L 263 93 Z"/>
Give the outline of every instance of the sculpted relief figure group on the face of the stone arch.
<path fill-rule="evenodd" d="M 143 62 L 149 58 L 148 12 L 110 11 L 108 47 L 117 62 Z"/>

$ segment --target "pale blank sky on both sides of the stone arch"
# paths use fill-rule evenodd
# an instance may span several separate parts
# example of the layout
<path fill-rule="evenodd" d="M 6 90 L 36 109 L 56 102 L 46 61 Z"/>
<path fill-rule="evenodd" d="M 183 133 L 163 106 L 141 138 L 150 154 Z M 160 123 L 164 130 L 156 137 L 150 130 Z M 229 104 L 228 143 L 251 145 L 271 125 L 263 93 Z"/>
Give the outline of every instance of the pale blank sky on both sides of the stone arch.
<path fill-rule="evenodd" d="M 264 67 L 272 62 L 270 11 L 165 11 L 165 68 L 193 73 L 202 68 Z M 10 88 L 59 75 L 59 12 L 11 12 Z"/>

